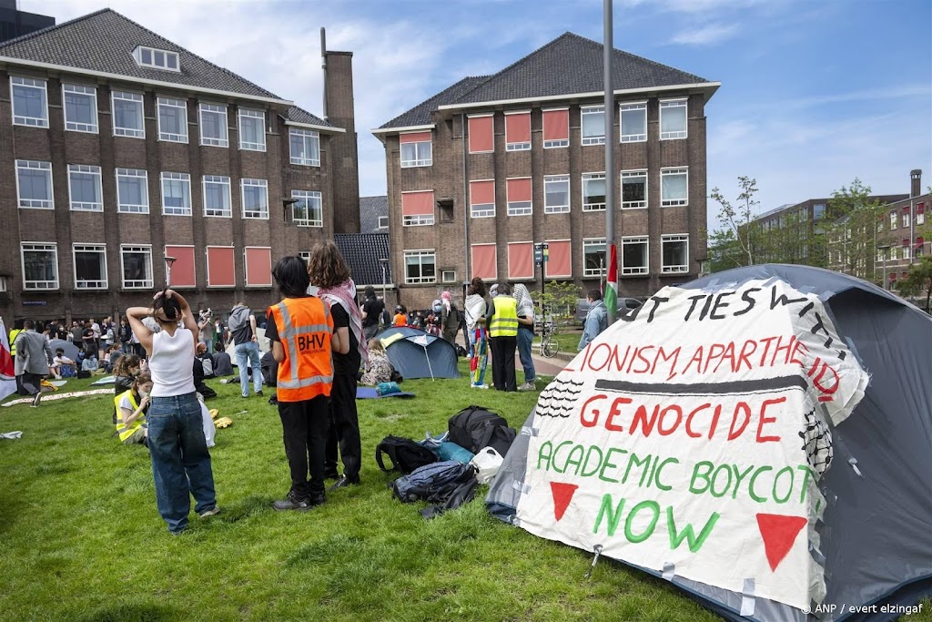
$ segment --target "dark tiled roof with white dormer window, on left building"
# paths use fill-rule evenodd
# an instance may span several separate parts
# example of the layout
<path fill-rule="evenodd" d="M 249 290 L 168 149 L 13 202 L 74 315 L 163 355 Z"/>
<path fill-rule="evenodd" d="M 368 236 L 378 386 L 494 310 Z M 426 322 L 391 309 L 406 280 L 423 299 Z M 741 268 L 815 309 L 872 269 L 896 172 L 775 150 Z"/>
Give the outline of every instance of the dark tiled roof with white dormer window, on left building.
<path fill-rule="evenodd" d="M 139 66 L 132 57 L 138 46 L 177 52 L 181 71 Z M 4 42 L 0 58 L 283 101 L 109 8 Z"/>

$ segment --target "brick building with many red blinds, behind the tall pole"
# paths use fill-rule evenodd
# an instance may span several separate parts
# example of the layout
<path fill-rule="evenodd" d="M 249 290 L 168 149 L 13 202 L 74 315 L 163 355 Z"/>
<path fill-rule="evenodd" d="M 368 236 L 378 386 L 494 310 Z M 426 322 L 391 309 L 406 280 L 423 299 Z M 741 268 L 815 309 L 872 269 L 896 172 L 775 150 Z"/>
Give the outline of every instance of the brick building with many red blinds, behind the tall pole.
<path fill-rule="evenodd" d="M 466 77 L 374 131 L 385 145 L 392 270 L 423 306 L 474 276 L 597 287 L 605 256 L 603 46 L 567 33 Z M 717 82 L 614 50 L 620 291 L 695 278 L 706 256 L 706 117 Z"/>

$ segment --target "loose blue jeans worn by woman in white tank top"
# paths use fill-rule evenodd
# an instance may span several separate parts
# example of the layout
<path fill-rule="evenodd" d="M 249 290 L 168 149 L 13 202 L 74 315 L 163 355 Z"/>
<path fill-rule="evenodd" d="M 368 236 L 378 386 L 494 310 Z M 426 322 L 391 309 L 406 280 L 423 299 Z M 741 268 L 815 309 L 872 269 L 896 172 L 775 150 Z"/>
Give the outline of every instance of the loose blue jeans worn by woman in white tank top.
<path fill-rule="evenodd" d="M 197 502 L 195 512 L 217 505 L 197 394 L 153 397 L 145 419 L 158 513 L 170 532 L 183 532 L 191 511 L 189 492 Z"/>

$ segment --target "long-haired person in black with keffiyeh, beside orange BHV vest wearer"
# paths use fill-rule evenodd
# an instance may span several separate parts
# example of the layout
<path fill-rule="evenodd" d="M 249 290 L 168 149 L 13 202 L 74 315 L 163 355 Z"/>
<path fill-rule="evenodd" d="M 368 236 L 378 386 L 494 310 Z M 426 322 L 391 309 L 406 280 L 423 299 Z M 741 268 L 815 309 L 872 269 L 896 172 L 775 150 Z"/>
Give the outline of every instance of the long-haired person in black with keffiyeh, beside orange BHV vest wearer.
<path fill-rule="evenodd" d="M 368 362 L 363 316 L 356 306 L 356 283 L 349 266 L 332 241 L 317 244 L 308 260 L 310 283 L 318 287 L 317 295 L 330 304 L 334 332 L 349 339 L 349 352 L 334 352 L 334 385 L 330 394 L 331 425 L 325 453 L 324 477 L 335 477 L 336 490 L 360 483 L 363 442 L 359 434 L 356 411 L 356 385 L 360 366 Z M 343 475 L 336 470 L 337 447 L 343 461 Z"/>

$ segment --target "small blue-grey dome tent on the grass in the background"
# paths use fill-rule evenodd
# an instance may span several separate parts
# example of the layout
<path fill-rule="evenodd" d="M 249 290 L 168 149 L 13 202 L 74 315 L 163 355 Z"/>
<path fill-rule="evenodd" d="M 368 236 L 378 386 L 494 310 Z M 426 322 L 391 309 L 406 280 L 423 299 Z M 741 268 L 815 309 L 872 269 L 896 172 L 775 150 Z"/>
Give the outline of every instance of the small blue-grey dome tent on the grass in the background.
<path fill-rule="evenodd" d="M 376 337 L 405 379 L 459 378 L 457 351 L 444 339 L 410 326 L 388 328 Z"/>

